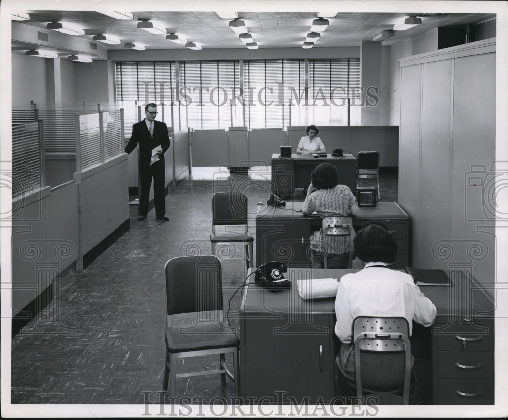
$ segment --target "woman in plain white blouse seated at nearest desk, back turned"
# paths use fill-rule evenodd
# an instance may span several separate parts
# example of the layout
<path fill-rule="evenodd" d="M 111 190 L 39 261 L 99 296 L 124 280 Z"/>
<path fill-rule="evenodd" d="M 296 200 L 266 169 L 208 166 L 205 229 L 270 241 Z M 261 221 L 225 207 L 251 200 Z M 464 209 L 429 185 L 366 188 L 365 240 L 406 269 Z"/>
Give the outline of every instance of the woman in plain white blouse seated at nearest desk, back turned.
<path fill-rule="evenodd" d="M 336 359 L 339 370 L 347 379 L 355 381 L 351 326 L 357 316 L 403 317 L 411 335 L 412 321 L 430 326 L 436 317 L 436 307 L 420 292 L 409 274 L 387 267 L 395 261 L 397 243 L 385 225 L 365 223 L 353 245 L 365 267 L 340 279 L 335 298 L 335 334 L 341 341 Z"/>

